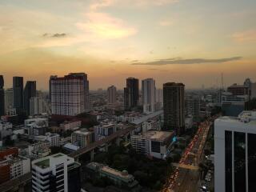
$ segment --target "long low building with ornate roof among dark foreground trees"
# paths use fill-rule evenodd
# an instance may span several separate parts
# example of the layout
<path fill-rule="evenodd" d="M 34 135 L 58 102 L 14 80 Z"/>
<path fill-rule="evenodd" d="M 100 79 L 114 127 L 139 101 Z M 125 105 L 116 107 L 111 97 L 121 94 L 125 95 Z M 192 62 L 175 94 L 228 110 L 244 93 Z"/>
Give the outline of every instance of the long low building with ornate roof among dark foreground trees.
<path fill-rule="evenodd" d="M 114 170 L 98 162 L 90 162 L 86 165 L 86 171 L 88 177 L 92 179 L 109 178 L 115 185 L 126 187 L 130 190 L 138 186 L 138 182 L 134 179 L 134 176 L 128 174 L 126 170 Z"/>

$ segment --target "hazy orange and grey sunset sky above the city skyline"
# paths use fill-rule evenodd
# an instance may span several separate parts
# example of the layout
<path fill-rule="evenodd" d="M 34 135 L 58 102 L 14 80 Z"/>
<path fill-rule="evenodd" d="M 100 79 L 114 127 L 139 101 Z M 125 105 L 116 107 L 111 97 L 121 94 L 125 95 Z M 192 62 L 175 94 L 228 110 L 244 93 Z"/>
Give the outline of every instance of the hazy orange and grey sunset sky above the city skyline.
<path fill-rule="evenodd" d="M 1 0 L 0 74 L 88 74 L 90 89 L 127 77 L 214 86 L 256 82 L 255 0 Z"/>

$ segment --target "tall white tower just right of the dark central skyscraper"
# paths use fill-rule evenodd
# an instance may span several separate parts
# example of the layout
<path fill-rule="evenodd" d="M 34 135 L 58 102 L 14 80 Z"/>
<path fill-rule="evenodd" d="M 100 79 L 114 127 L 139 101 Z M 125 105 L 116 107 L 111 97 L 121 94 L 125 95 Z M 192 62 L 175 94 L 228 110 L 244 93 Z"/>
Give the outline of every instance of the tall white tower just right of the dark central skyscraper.
<path fill-rule="evenodd" d="M 156 89 L 155 82 L 153 78 L 146 78 L 142 80 L 142 105 L 143 112 L 153 113 L 155 110 L 156 101 Z"/>

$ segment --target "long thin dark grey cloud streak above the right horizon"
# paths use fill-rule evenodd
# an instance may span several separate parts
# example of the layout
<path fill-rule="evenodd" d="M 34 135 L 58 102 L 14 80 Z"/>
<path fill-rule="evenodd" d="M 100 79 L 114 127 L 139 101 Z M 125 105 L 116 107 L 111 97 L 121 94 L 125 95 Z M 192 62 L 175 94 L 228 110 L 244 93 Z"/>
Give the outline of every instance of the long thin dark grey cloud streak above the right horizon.
<path fill-rule="evenodd" d="M 174 65 L 174 64 L 201 64 L 201 63 L 222 63 L 222 62 L 232 62 L 240 60 L 242 57 L 233 57 L 233 58 L 217 58 L 217 59 L 208 59 L 208 58 L 167 58 L 160 59 L 154 62 L 134 62 L 131 65 L 134 66 L 165 66 L 165 65 Z"/>

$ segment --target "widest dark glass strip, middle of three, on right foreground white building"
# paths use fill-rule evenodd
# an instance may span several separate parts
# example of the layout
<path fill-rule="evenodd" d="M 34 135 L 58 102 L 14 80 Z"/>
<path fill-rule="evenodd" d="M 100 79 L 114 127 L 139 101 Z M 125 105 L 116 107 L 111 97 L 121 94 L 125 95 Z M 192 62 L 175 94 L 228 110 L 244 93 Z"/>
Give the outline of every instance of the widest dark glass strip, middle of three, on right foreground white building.
<path fill-rule="evenodd" d="M 234 132 L 234 192 L 246 191 L 246 134 Z"/>

